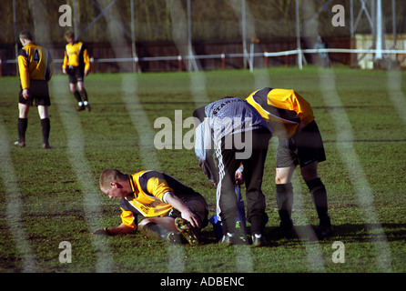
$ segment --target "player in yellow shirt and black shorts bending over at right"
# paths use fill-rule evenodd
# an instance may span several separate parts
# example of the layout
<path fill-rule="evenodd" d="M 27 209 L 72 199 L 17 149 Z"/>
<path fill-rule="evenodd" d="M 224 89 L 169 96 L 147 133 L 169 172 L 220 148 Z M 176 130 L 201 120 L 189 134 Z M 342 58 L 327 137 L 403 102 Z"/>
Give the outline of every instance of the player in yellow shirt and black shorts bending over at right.
<path fill-rule="evenodd" d="M 293 227 L 291 178 L 299 165 L 320 220 L 316 235 L 319 238 L 329 236 L 332 227 L 327 191 L 317 172 L 318 163 L 325 161 L 326 155 L 310 104 L 294 90 L 269 87 L 253 92 L 247 101 L 258 110 L 279 138 L 275 183 L 280 229 L 289 234 Z"/>

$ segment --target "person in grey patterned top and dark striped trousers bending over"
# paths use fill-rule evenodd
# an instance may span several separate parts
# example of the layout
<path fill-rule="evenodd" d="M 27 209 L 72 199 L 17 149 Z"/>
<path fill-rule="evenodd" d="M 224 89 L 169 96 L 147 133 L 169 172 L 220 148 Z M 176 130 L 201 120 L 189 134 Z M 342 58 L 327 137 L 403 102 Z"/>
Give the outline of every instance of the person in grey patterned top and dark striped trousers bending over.
<path fill-rule="evenodd" d="M 265 246 L 268 215 L 261 185 L 272 136 L 269 125 L 251 105 L 235 97 L 224 97 L 201 106 L 193 116 L 197 123 L 198 165 L 217 187 L 217 216 L 223 231 L 219 243 L 228 246 L 248 243 L 247 237 L 238 236 L 236 229 L 238 201 L 234 186 L 236 170 L 242 163 L 252 246 Z"/>

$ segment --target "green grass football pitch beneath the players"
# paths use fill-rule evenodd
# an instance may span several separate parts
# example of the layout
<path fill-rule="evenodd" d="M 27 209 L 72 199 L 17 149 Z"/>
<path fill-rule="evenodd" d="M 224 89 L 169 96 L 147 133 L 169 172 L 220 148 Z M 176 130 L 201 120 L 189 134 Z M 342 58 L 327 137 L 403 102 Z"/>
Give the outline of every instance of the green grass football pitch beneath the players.
<path fill-rule="evenodd" d="M 380 265 L 382 249 L 374 243 L 374 238 L 381 237 L 381 233 L 370 230 L 365 220 L 365 209 L 357 198 L 355 186 L 360 181 L 353 181 L 338 150 L 352 145 L 360 161 L 358 171 L 362 172 L 370 186 L 374 210 L 386 235 L 390 271 L 405 272 L 406 125 L 397 115 L 396 105 L 391 103 L 387 73 L 346 68 L 334 70 L 337 93 L 352 127 L 351 144 L 348 140 L 337 139 L 338 129 L 331 118 L 334 110 L 342 108 L 324 103 L 319 74 L 325 71 L 305 67 L 303 71 L 272 68 L 257 72 L 269 75 L 269 86 L 294 88 L 313 106 L 328 158 L 320 164 L 320 176 L 328 189 L 330 216 L 336 229 L 334 236 L 311 242 L 280 238 L 273 232 L 279 225 L 279 218 L 273 183 L 277 142 L 272 139 L 263 184 L 269 215 L 266 229 L 269 246 L 258 249 L 218 246 L 210 225 L 203 230 L 202 246 L 168 247 L 165 243 L 147 240 L 141 234 L 114 236 L 102 240 L 102 245 L 108 246 L 109 250 L 107 269 L 123 273 L 387 271 L 382 270 Z M 224 95 L 245 97 L 257 89 L 254 75 L 246 70 L 213 71 L 203 75 L 209 100 Z M 406 75 L 401 73 L 403 94 L 406 94 L 405 79 Z M 76 113 L 66 76 L 55 75 L 51 82 L 52 105 L 49 112 L 53 148 L 48 151 L 41 148 L 39 118 L 36 108 L 32 108 L 27 146 L 19 149 L 11 146 L 16 137 L 18 78 L 0 78 L 0 126 L 5 130 L 2 140 L 9 144 L 12 164 L 8 166 L 15 171 L 15 176 L 11 176 L 9 171 L 0 172 L 0 272 L 24 270 L 25 256 L 13 236 L 14 228 L 7 220 L 7 203 L 15 201 L 15 198 L 21 199 L 22 220 L 19 227 L 25 230 L 24 237 L 31 247 L 36 272 L 100 270 L 97 269 L 97 259 L 104 255 L 105 248 L 95 243 L 90 232 L 96 225 L 120 224 L 119 201 L 109 200 L 97 189 L 98 176 L 108 167 L 131 174 L 145 169 L 146 164 L 152 165 L 195 188 L 208 199 L 210 214 L 214 214 L 215 188 L 198 167 L 194 152 L 187 149 L 155 150 L 153 135 L 145 135 L 146 125 L 152 128 L 154 135 L 160 130 L 153 128 L 157 117 L 167 116 L 173 121 L 175 110 L 182 110 L 185 119 L 198 105 L 204 104 L 204 99 L 195 103 L 188 73 L 89 75 L 86 90 L 92 105 L 91 113 Z M 130 87 L 134 91 L 129 90 Z M 147 115 L 147 120 L 141 118 L 143 114 Z M 184 133 L 187 131 L 184 129 Z M 5 149 L 6 146 L 2 153 Z M 2 163 L 5 160 L 3 156 Z M 17 186 L 19 191 L 10 193 L 5 185 L 13 189 Z M 294 186 L 297 207 L 293 218 L 299 230 L 316 225 L 317 216 L 310 194 L 299 178 L 299 171 L 294 176 Z M 89 218 L 86 216 L 86 209 L 89 209 L 86 203 L 90 197 L 101 205 L 100 213 Z M 299 198 L 303 203 L 300 207 Z M 59 262 L 62 249 L 58 246 L 62 241 L 72 245 L 72 263 Z M 332 244 L 335 241 L 344 243 L 344 264 L 332 262 L 331 256 L 335 251 Z M 317 258 L 321 258 L 321 262 Z"/>

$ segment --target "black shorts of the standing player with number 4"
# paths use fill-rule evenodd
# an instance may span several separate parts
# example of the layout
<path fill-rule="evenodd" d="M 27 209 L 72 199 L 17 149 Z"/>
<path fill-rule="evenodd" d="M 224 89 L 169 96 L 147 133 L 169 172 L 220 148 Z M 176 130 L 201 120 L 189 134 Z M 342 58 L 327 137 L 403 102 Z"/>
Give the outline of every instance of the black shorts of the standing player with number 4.
<path fill-rule="evenodd" d="M 51 99 L 49 98 L 48 82 L 44 80 L 30 80 L 30 87 L 28 89 L 30 97 L 25 99 L 23 97 L 23 90 L 20 90 L 18 95 L 18 102 L 24 105 L 51 105 Z"/>

